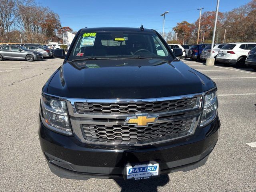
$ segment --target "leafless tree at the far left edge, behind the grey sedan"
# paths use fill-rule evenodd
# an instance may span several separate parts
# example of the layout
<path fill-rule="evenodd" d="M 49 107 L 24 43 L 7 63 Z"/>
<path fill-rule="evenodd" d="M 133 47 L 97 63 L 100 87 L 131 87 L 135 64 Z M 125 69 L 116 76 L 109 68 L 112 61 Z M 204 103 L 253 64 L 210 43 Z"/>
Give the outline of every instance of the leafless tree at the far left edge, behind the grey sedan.
<path fill-rule="evenodd" d="M 15 21 L 16 6 L 14 0 L 1 0 L 0 2 L 0 39 L 9 41 L 10 27 Z"/>

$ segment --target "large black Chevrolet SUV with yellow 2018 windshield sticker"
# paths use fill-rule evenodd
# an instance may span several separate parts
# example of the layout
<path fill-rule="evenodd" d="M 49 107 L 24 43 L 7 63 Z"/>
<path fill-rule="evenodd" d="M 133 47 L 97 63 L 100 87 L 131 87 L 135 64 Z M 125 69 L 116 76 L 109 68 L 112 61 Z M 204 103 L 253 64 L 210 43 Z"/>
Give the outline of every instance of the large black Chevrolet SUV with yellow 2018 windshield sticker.
<path fill-rule="evenodd" d="M 66 55 L 55 50 L 64 62 L 39 111 L 50 170 L 140 180 L 204 165 L 219 136 L 217 86 L 181 55 L 143 27 L 84 28 Z"/>

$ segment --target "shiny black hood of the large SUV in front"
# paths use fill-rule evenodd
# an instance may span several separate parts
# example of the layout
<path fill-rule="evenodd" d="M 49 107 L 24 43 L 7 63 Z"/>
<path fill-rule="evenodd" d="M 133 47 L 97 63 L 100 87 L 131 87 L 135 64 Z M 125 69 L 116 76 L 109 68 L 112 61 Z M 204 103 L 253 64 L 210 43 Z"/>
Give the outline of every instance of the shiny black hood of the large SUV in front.
<path fill-rule="evenodd" d="M 83 60 L 64 62 L 43 91 L 68 98 L 140 99 L 200 93 L 215 86 L 181 61 Z"/>

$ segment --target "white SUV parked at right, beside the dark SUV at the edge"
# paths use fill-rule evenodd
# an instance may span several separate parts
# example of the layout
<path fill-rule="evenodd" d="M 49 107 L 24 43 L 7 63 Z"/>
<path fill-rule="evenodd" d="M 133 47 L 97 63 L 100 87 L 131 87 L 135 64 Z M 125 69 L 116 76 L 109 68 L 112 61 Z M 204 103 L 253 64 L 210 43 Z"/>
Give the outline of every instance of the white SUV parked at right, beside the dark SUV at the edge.
<path fill-rule="evenodd" d="M 226 44 L 219 50 L 216 61 L 243 66 L 245 64 L 248 52 L 255 46 L 256 43 Z"/>

